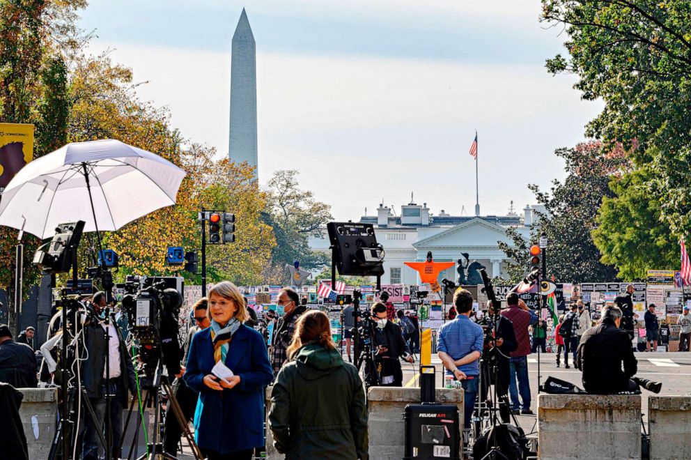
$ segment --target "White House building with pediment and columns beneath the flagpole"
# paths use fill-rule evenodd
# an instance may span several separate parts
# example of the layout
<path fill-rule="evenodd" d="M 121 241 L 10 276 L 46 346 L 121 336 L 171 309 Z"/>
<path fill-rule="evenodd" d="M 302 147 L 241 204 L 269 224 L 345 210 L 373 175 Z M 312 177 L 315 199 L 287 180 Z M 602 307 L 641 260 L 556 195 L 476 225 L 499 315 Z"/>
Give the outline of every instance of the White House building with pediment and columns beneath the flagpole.
<path fill-rule="evenodd" d="M 417 272 L 405 266 L 404 262 L 424 261 L 431 251 L 435 262 L 453 261 L 456 265 L 445 270 L 440 279 L 456 281 L 456 267 L 461 254 L 469 254 L 487 268 L 490 277 L 504 274 L 506 255 L 499 250 L 497 242 L 513 244 L 506 237 L 506 229 L 514 227 L 525 238 L 529 237 L 534 222 L 534 211 L 543 211 L 542 206 L 526 206 L 519 216 L 510 210 L 508 215 L 452 216 L 444 213 L 431 215 L 427 204 L 409 203 L 401 206 L 401 215 L 394 215 L 391 209 L 380 204 L 376 216 L 365 215 L 359 222 L 374 224 L 377 241 L 385 251 L 382 284 L 417 284 Z M 311 238 L 313 250 L 329 250 L 326 229 L 322 236 Z"/>

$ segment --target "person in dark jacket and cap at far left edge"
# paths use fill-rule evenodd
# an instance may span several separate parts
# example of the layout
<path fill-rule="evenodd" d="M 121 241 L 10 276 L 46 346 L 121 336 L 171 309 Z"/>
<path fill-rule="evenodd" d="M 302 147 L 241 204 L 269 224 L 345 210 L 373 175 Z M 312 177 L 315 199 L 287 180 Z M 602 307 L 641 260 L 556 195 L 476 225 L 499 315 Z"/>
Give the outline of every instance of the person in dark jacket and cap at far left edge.
<path fill-rule="evenodd" d="M 15 388 L 36 388 L 36 355 L 29 345 L 18 344 L 6 324 L 0 324 L 0 382 Z"/>

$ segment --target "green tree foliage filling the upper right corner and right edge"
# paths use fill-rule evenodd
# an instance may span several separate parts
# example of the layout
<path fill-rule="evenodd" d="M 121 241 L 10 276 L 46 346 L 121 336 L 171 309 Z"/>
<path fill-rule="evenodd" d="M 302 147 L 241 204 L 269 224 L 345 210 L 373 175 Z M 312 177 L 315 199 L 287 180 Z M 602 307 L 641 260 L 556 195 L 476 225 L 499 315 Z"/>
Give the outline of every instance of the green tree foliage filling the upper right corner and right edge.
<path fill-rule="evenodd" d="M 548 70 L 575 73 L 584 99 L 605 102 L 587 135 L 623 146 L 632 160 L 631 176 L 613 183 L 616 197 L 605 199 L 596 242 L 603 261 L 640 277 L 648 266 L 640 244 L 652 238 L 646 247 L 660 254 L 646 260 L 667 264 L 669 242 L 691 233 L 691 2 L 542 3 L 543 20 L 568 33 L 569 56 L 550 59 Z"/>

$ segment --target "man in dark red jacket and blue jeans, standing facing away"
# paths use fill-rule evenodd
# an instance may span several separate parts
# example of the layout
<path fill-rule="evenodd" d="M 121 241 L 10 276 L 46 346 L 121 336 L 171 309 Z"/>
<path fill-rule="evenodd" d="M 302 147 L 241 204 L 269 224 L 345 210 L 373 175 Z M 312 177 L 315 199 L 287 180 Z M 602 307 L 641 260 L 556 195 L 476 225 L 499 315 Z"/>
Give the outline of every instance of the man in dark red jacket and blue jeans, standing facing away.
<path fill-rule="evenodd" d="M 518 347 L 511 352 L 511 358 L 508 360 L 509 381 L 508 394 L 511 395 L 511 410 L 514 414 L 532 414 L 530 410 L 530 383 L 528 381 L 528 358 L 530 354 L 530 337 L 528 335 L 528 327 L 531 323 L 537 321 L 537 315 L 525 305 L 525 302 L 518 298 L 517 293 L 511 293 L 506 297 L 508 309 L 502 312 L 503 316 L 511 320 L 513 323 L 513 332 L 515 332 Z M 516 379 L 518 378 L 518 385 Z M 519 412 L 520 403 L 518 401 L 518 393 L 520 392 L 520 399 L 522 408 Z"/>

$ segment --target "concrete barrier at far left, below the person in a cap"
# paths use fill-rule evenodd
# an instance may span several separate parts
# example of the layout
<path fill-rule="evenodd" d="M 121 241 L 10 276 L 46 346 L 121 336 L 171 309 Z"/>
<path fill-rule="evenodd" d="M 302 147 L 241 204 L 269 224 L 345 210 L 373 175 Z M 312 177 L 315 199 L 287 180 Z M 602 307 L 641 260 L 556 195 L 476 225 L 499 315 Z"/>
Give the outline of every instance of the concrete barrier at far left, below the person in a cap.
<path fill-rule="evenodd" d="M 22 394 L 20 417 L 29 459 L 47 459 L 58 417 L 57 388 L 17 388 Z M 0 447 L 1 448 L 1 447 Z M 2 455 L 0 454 L 0 457 Z"/>

